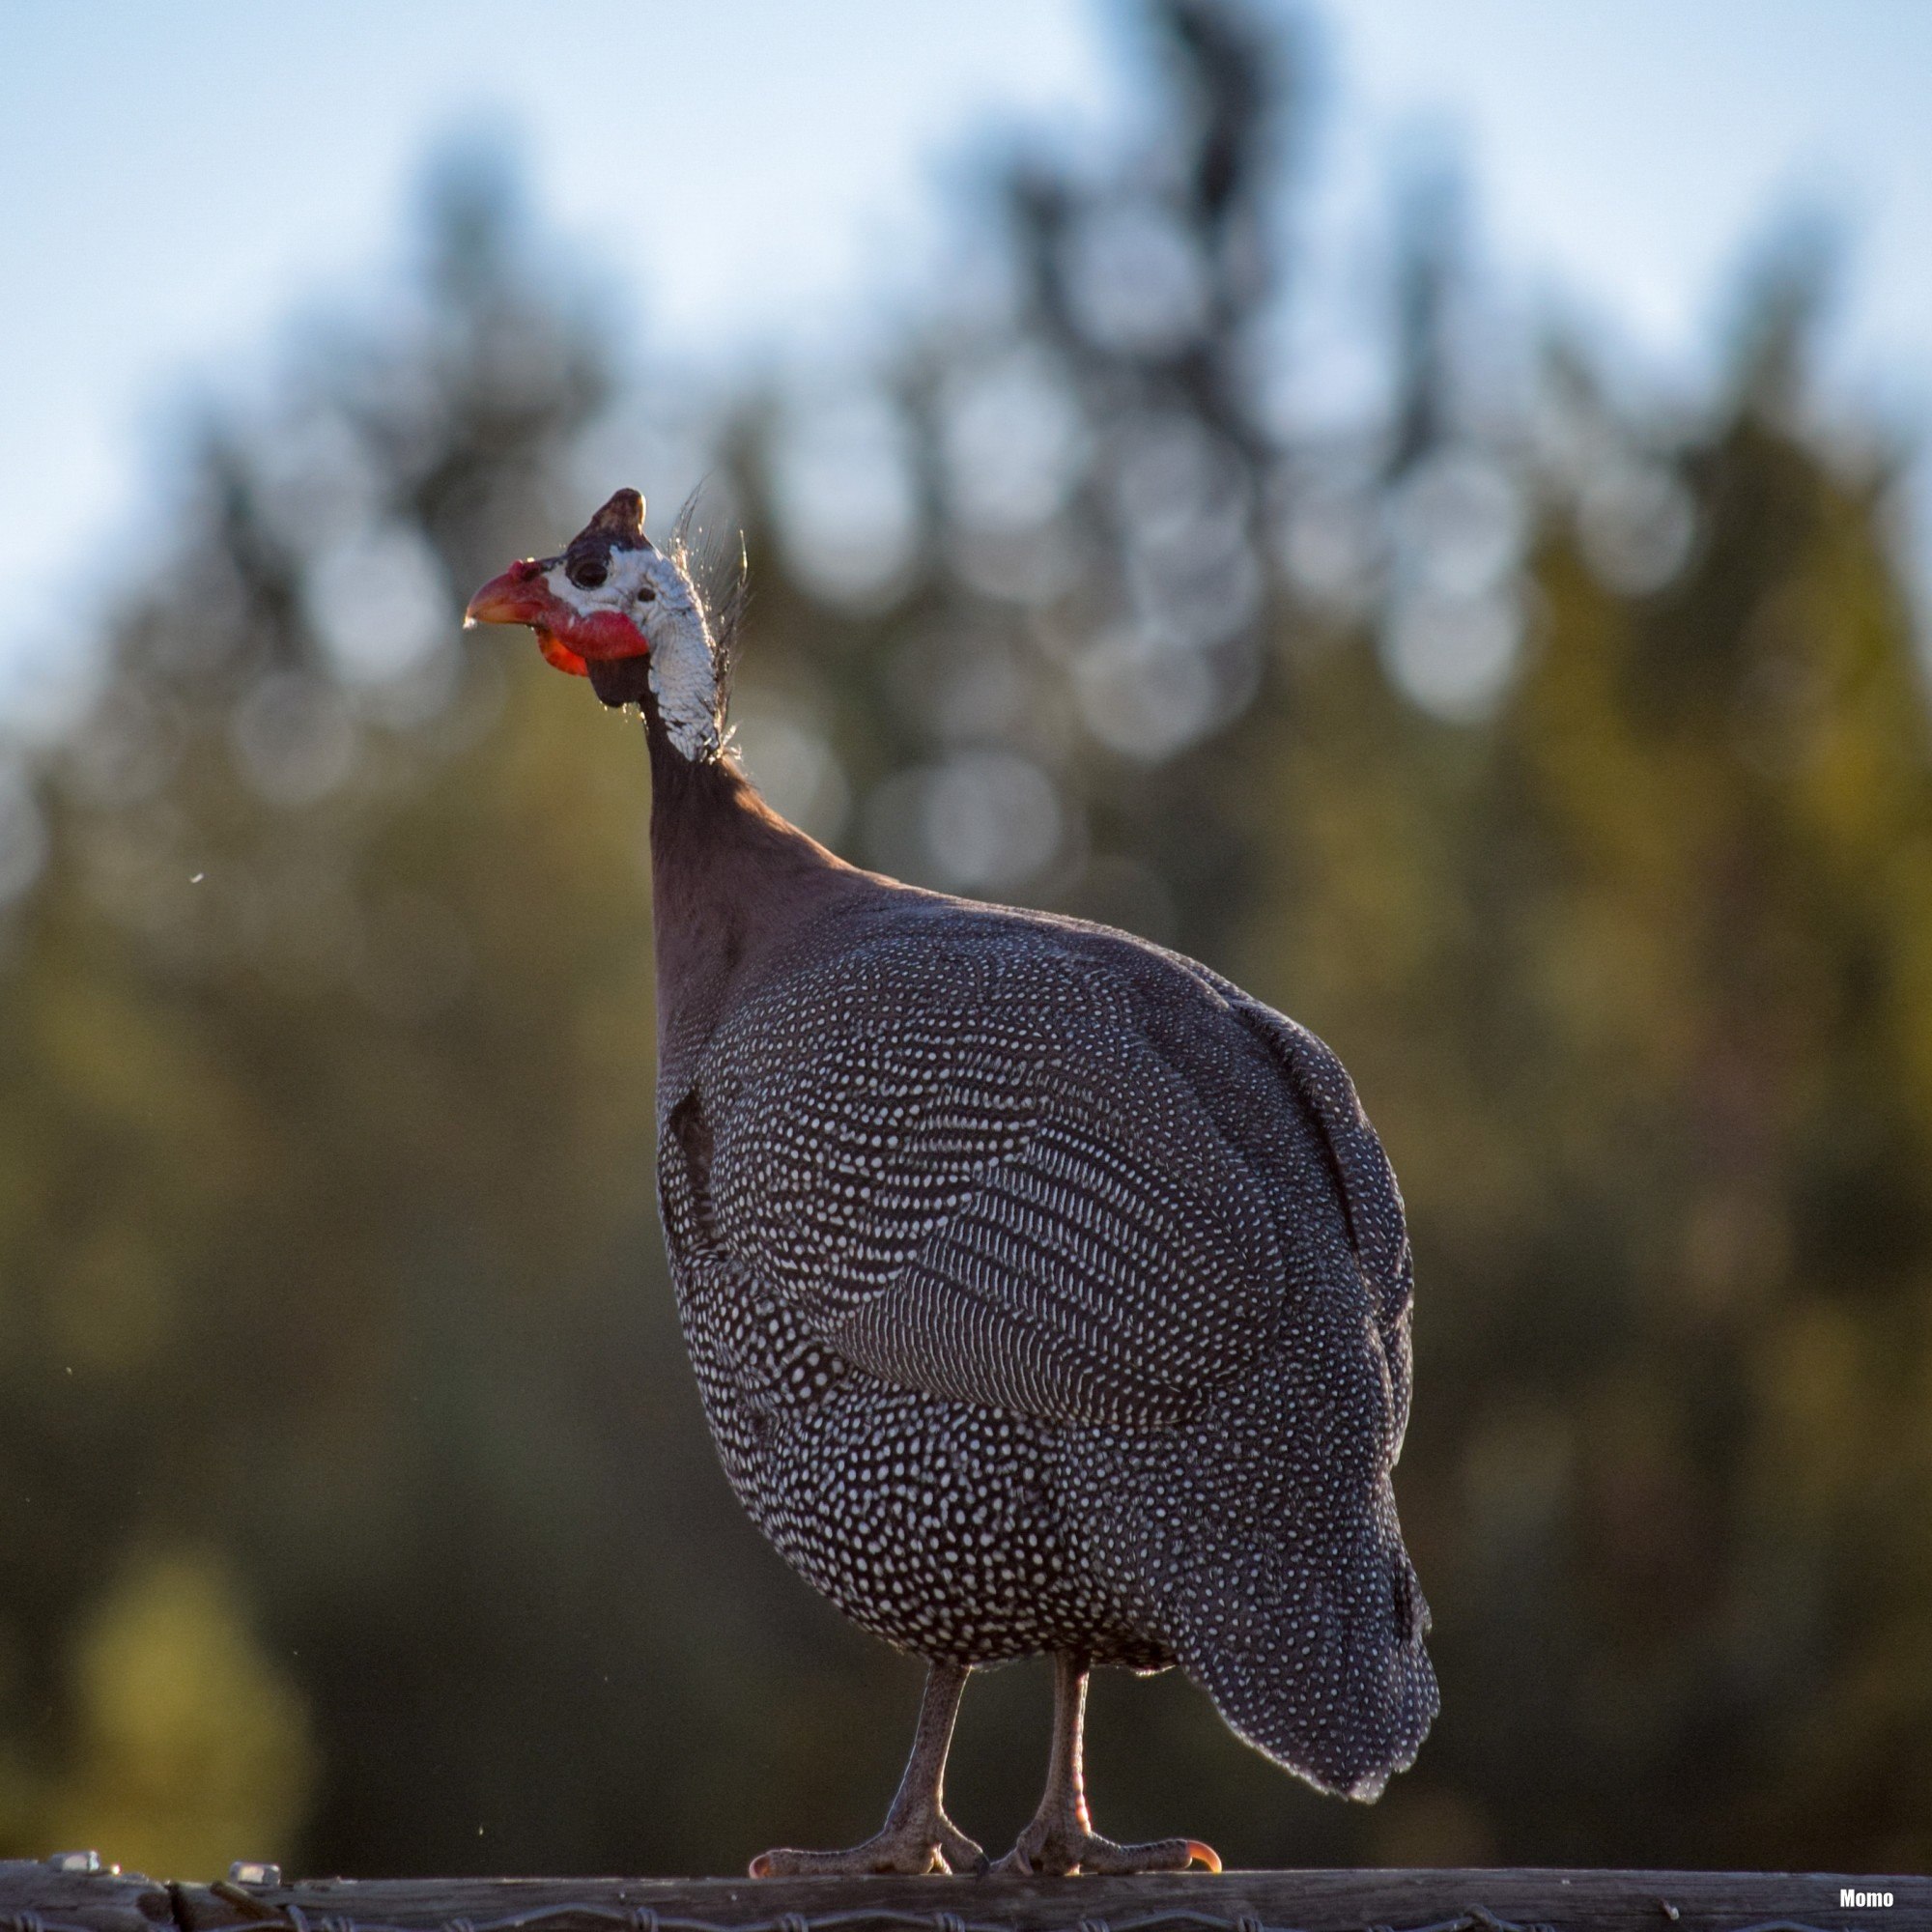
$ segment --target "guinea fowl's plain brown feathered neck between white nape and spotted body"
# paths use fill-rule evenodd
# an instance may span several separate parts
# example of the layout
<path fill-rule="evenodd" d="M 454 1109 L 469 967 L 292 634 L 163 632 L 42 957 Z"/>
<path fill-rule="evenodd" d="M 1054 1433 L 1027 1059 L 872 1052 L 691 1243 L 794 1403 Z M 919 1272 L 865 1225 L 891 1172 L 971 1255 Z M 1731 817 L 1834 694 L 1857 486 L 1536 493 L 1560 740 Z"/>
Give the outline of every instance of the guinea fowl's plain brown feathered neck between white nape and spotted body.
<path fill-rule="evenodd" d="M 719 1018 L 802 927 L 873 885 L 779 817 L 728 757 L 688 759 L 647 707 L 659 1078 L 682 1088 Z"/>

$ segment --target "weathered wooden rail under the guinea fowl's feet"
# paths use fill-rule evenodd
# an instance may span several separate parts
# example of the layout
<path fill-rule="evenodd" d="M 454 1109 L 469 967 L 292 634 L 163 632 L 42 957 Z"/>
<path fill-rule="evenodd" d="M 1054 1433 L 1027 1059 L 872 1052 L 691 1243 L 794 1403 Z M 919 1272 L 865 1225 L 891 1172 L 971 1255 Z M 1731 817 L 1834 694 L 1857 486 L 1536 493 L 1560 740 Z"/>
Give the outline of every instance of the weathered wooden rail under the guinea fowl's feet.
<path fill-rule="evenodd" d="M 0 1932 L 1932 1932 L 1932 1878 L 1920 1876 L 1360 1870 L 284 1886 L 274 1866 L 236 1866 L 220 1884 L 184 1886 L 91 1859 L 0 1862 Z M 1841 1903 L 1847 1893 L 1859 1903 Z"/>

